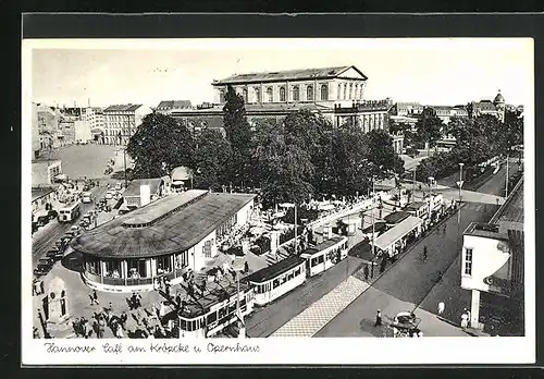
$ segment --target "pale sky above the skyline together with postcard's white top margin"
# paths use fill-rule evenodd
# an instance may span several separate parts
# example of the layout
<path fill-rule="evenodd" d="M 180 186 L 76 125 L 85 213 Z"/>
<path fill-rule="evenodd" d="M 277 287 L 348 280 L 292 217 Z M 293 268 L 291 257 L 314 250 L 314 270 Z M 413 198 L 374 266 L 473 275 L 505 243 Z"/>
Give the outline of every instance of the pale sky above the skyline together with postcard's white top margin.
<path fill-rule="evenodd" d="M 235 73 L 336 65 L 368 76 L 369 100 L 453 106 L 493 100 L 500 89 L 507 103 L 533 101 L 529 38 L 26 40 L 23 48 L 32 51 L 32 100 L 51 106 L 212 102 L 212 81 Z"/>

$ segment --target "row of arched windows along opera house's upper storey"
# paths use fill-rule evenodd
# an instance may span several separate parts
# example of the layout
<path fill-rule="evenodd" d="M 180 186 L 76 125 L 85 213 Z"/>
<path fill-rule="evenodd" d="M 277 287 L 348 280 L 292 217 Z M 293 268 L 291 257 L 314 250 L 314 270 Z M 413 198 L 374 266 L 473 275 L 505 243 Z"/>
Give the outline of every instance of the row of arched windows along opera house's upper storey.
<path fill-rule="evenodd" d="M 321 101 L 326 101 L 329 100 L 329 85 L 327 84 L 322 84 L 320 87 L 319 91 L 319 100 Z M 363 85 L 358 84 L 358 83 L 344 83 L 344 84 L 338 84 L 338 93 L 337 93 L 337 99 L 338 100 L 356 100 L 356 99 L 362 99 L 363 96 Z M 254 94 L 256 98 L 256 102 L 261 102 L 261 90 L 259 87 L 254 88 Z M 293 86 L 290 88 L 290 94 L 292 94 L 292 100 L 293 101 L 300 101 L 300 87 L 299 86 Z M 244 88 L 242 91 L 242 96 L 244 97 L 245 102 L 249 102 L 249 97 L 248 97 L 248 89 Z M 314 101 L 318 100 L 314 97 L 314 90 L 313 90 L 313 85 L 307 85 L 306 86 L 306 101 Z M 224 90 L 220 91 L 220 102 L 225 101 L 225 93 Z M 268 87 L 265 89 L 265 102 L 273 102 L 274 101 L 274 88 L 273 87 Z M 287 91 L 284 86 L 280 87 L 280 101 L 287 101 Z"/>

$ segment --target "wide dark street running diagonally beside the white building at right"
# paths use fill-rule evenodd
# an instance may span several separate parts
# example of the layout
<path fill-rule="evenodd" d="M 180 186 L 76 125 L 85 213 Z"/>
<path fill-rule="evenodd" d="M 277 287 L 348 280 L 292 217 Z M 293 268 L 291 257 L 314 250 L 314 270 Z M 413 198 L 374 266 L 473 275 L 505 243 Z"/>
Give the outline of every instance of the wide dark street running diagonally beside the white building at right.
<path fill-rule="evenodd" d="M 516 170 L 510 170 L 509 174 L 512 175 L 514 172 Z M 505 180 L 506 168 L 502 168 L 479 190 L 486 194 L 499 195 Z M 487 221 L 497 208 L 497 205 L 492 204 L 467 203 L 460 212 L 444 221 L 446 234 L 438 232 L 441 230 L 438 228 L 419 241 L 378 279 L 371 289 L 341 311 L 316 337 L 385 335 L 386 328 L 374 327 L 378 309 L 381 310 L 385 325 L 398 311 L 415 310 L 415 314 L 422 319 L 420 329 L 424 335 L 463 335 L 465 333 L 459 333 L 459 328 L 452 323 L 458 325 L 460 311 L 463 307 L 470 306 L 470 294 L 460 289 L 454 278 L 448 277 L 448 281 L 445 282 L 443 274 L 453 265 L 459 264 L 462 232 L 467 225 L 472 221 Z M 429 249 L 426 261 L 422 259 L 423 246 Z M 445 288 L 445 284 L 449 285 Z M 441 296 L 436 296 L 435 289 L 440 289 Z M 449 320 L 438 320 L 432 316 L 438 298 L 446 303 L 445 316 Z M 423 302 L 424 307 L 420 308 Z"/>

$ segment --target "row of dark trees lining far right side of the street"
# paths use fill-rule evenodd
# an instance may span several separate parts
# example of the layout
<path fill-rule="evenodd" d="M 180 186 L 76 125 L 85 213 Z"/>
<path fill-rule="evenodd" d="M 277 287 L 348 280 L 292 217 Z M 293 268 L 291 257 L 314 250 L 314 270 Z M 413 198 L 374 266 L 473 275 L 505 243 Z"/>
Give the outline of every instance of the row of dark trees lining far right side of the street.
<path fill-rule="evenodd" d="M 512 154 L 516 145 L 523 144 L 523 119 L 517 111 L 506 111 L 505 121 L 483 114 L 472 118 L 452 118 L 447 133 L 456 137 L 456 146 L 448 152 L 423 160 L 418 167 L 418 180 L 429 176 L 444 178 L 498 156 Z"/>

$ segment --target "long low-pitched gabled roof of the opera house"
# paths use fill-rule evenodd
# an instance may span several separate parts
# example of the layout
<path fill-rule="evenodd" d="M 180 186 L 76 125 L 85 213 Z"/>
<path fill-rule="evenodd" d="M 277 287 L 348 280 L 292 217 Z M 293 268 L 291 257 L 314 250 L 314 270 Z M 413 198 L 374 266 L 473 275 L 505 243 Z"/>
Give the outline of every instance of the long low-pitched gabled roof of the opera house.
<path fill-rule="evenodd" d="M 287 70 L 277 72 L 258 72 L 247 74 L 236 74 L 228 76 L 224 80 L 214 82 L 213 85 L 225 85 L 235 83 L 260 83 L 260 82 L 280 82 L 280 81 L 297 81 L 307 78 L 333 78 L 349 69 L 355 69 L 363 80 L 368 77 L 354 65 L 342 65 L 334 68 L 323 69 L 301 69 L 301 70 Z"/>

